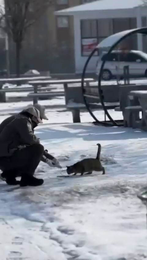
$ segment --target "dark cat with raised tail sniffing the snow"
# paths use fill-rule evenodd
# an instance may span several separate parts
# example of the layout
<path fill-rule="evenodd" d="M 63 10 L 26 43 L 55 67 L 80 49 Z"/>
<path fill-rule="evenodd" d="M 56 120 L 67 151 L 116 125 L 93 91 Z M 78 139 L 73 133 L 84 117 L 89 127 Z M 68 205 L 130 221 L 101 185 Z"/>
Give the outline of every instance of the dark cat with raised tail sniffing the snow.
<path fill-rule="evenodd" d="M 100 162 L 100 152 L 101 152 L 101 145 L 100 143 L 97 143 L 98 145 L 98 151 L 96 158 L 87 158 L 84 160 L 81 160 L 74 165 L 71 166 L 66 166 L 67 169 L 67 174 L 72 174 L 76 175 L 77 173 L 81 173 L 83 175 L 84 173 L 86 174 L 92 174 L 92 171 L 103 171 L 103 174 L 105 174 L 105 168 L 102 166 Z"/>

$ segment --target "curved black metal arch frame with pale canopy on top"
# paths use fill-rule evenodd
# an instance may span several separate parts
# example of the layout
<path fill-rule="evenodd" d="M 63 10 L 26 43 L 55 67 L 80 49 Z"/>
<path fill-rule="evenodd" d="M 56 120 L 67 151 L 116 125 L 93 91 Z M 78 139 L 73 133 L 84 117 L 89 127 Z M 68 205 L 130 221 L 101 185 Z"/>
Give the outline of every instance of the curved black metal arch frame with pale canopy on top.
<path fill-rule="evenodd" d="M 85 106 L 87 108 L 87 110 L 89 111 L 90 115 L 93 117 L 93 119 L 97 122 L 97 123 L 103 123 L 105 124 L 105 122 L 100 122 L 95 116 L 94 114 L 92 113 L 90 107 L 89 107 L 89 104 L 86 100 L 86 97 L 85 97 L 85 90 L 84 90 L 84 78 L 85 78 L 85 73 L 86 73 L 86 69 L 87 69 L 87 66 L 89 64 L 89 61 L 90 59 L 92 58 L 92 56 L 94 55 L 94 53 L 100 49 L 100 48 L 103 48 L 103 49 L 106 49 L 108 50 L 106 55 L 110 54 L 113 49 L 118 45 L 120 44 L 120 42 L 124 39 L 126 39 L 128 36 L 131 36 L 135 33 L 139 33 L 139 34 L 144 34 L 144 35 L 147 35 L 147 27 L 142 27 L 142 28 L 136 28 L 136 29 L 131 29 L 131 30 L 126 30 L 126 31 L 123 31 L 123 32 L 118 32 L 118 33 L 115 33 L 109 37 L 107 37 L 106 39 L 104 39 L 103 41 L 100 42 L 100 44 L 98 44 L 96 46 L 96 48 L 91 52 L 91 54 L 89 55 L 85 65 L 84 65 L 84 68 L 83 68 L 83 72 L 82 72 L 82 78 L 81 78 L 81 87 L 82 87 L 82 93 L 83 93 L 83 99 L 84 99 L 84 103 L 85 103 Z M 107 108 L 104 104 L 104 101 L 103 101 L 103 96 L 102 96 L 102 89 L 101 89 L 101 79 L 102 79 L 102 73 L 103 73 L 103 68 L 104 68 L 104 65 L 105 65 L 105 60 L 102 62 L 102 65 L 101 65 L 101 68 L 100 68 L 100 73 L 99 73 L 99 79 L 98 79 L 98 91 L 99 91 L 99 97 L 100 97 L 100 102 L 101 102 L 101 105 L 102 105 L 102 108 L 105 112 L 105 114 L 107 115 L 107 117 L 109 118 L 109 120 L 112 122 L 112 124 L 114 126 L 118 126 L 117 122 L 115 122 L 115 120 L 110 116 L 109 112 L 107 111 Z"/>

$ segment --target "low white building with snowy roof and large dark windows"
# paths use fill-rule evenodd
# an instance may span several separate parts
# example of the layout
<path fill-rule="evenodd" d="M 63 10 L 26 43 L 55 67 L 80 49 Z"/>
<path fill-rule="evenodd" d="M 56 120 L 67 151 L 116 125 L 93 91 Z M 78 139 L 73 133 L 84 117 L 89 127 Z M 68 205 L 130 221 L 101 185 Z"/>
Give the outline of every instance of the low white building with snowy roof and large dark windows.
<path fill-rule="evenodd" d="M 55 12 L 61 17 L 74 17 L 75 73 L 81 73 L 92 48 L 107 36 L 147 25 L 147 7 L 142 0 L 101 0 Z M 147 52 L 146 36 L 134 35 L 124 43 L 129 49 Z M 90 61 L 94 72 L 99 53 Z"/>

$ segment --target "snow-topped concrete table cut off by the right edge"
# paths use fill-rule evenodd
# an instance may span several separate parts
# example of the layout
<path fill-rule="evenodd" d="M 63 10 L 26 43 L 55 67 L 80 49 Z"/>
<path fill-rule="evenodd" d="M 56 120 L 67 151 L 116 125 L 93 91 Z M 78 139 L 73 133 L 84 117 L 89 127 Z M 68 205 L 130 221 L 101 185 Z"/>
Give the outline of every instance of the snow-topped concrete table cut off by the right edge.
<path fill-rule="evenodd" d="M 130 91 L 130 100 L 134 98 L 139 100 L 142 109 L 142 118 L 140 120 L 140 128 L 147 131 L 147 90 Z"/>

